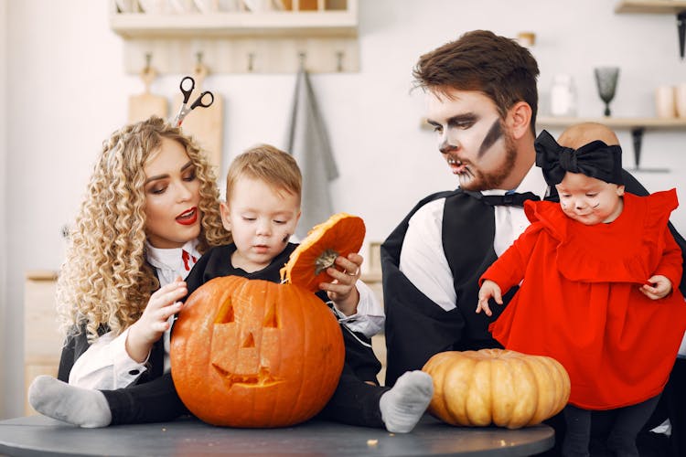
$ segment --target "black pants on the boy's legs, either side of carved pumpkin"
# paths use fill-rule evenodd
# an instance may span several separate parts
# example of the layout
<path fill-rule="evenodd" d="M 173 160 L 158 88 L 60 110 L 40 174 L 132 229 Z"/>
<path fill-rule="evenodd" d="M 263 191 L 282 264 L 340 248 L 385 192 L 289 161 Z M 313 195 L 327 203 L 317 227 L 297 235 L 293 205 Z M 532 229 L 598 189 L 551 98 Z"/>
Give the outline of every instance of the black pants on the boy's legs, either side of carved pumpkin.
<path fill-rule="evenodd" d="M 319 416 L 350 425 L 382 428 L 379 401 L 388 388 L 376 382 L 381 363 L 374 356 L 369 338 L 343 328 L 346 362 L 334 395 Z M 369 346 L 368 346 L 369 344 Z M 165 422 L 189 414 L 178 397 L 171 373 L 128 388 L 102 390 L 112 412 L 112 425 Z"/>

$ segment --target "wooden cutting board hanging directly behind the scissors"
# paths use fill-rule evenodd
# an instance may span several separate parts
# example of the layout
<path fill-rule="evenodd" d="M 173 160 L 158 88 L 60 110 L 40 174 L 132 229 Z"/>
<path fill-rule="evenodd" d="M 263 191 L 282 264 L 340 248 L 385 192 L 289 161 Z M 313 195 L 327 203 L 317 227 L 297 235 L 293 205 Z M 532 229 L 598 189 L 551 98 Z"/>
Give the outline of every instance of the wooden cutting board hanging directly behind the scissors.
<path fill-rule="evenodd" d="M 188 99 L 189 105 L 196 101 L 200 93 L 202 93 L 202 83 L 207 75 L 207 67 L 201 64 L 196 65 L 192 75 L 193 79 L 196 80 L 196 87 Z M 215 166 L 214 172 L 219 177 L 224 136 L 224 103 L 217 91 L 212 90 L 211 92 L 214 95 L 214 102 L 212 102 L 209 108 L 198 106 L 195 110 L 188 112 L 186 118 L 181 123 L 181 129 L 184 133 L 191 134 L 205 153 L 208 154 L 209 163 Z M 183 95 L 179 91 L 174 97 L 173 115 L 177 114 L 182 101 Z"/>

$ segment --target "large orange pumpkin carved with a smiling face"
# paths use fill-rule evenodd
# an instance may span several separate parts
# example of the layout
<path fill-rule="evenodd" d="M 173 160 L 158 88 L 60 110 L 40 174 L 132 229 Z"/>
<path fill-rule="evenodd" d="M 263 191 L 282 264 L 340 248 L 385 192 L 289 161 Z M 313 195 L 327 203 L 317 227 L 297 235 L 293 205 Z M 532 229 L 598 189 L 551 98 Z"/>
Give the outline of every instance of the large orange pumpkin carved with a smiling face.
<path fill-rule="evenodd" d="M 215 278 L 193 292 L 171 339 L 172 377 L 200 420 L 284 427 L 324 408 L 343 368 L 338 321 L 293 284 Z"/>

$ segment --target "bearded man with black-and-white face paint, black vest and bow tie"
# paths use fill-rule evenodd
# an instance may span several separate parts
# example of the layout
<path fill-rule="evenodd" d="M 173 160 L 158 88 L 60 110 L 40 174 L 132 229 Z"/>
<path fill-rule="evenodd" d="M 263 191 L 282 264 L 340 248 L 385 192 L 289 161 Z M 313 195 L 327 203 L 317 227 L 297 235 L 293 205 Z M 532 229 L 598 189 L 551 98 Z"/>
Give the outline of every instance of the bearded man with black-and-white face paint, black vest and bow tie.
<path fill-rule="evenodd" d="M 474 313 L 478 278 L 529 226 L 525 199 L 557 201 L 534 165 L 538 75 L 529 50 L 483 30 L 419 58 L 413 76 L 427 92 L 428 122 L 459 187 L 423 198 L 381 246 L 388 386 L 439 352 L 500 346 L 488 324 L 503 307 Z M 648 195 L 622 174 L 627 192 Z M 670 230 L 683 251 L 686 241 Z M 686 292 L 683 279 L 680 288 Z M 563 431 L 561 418 L 552 424 Z M 672 441 L 681 441 L 675 432 L 684 434 L 675 428 Z"/>

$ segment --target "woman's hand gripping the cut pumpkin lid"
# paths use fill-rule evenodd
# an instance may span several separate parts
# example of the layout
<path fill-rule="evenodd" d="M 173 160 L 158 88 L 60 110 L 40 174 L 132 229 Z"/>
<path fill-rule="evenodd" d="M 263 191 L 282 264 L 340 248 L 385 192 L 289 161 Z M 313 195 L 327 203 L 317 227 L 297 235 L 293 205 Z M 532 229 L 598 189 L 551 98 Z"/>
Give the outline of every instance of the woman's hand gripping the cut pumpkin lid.
<path fill-rule="evenodd" d="M 343 269 L 330 267 L 327 273 L 334 281 L 322 282 L 319 289 L 327 291 L 328 298 L 336 304 L 338 311 L 346 315 L 358 312 L 359 292 L 355 283 L 359 280 L 359 269 L 362 266 L 362 256 L 359 254 L 348 254 L 348 258 L 338 256 L 336 264 Z"/>

